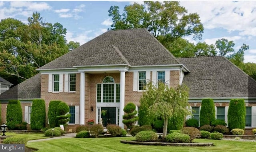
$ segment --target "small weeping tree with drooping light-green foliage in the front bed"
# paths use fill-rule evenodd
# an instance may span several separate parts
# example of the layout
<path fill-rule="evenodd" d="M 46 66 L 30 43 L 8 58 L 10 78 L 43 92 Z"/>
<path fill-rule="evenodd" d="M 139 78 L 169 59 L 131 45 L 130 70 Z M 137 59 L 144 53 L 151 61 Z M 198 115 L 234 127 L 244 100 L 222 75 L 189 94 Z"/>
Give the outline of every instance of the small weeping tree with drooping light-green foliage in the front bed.
<path fill-rule="evenodd" d="M 171 117 L 178 116 L 180 113 L 190 115 L 186 109 L 188 106 L 188 88 L 185 85 L 176 88 L 168 87 L 159 83 L 158 87 L 152 85 L 152 82 L 146 86 L 140 99 L 141 105 L 148 107 L 148 117 L 161 118 L 164 120 L 163 137 L 167 134 L 168 120 Z"/>

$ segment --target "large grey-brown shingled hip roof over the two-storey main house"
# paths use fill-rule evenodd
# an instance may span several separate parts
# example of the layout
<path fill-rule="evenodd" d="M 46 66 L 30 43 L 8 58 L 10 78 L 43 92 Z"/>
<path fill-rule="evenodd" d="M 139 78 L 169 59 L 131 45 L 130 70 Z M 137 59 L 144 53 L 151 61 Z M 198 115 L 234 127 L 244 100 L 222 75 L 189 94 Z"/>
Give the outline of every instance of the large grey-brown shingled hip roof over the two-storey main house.
<path fill-rule="evenodd" d="M 42 66 L 39 70 L 73 66 L 180 64 L 146 29 L 111 30 Z"/>

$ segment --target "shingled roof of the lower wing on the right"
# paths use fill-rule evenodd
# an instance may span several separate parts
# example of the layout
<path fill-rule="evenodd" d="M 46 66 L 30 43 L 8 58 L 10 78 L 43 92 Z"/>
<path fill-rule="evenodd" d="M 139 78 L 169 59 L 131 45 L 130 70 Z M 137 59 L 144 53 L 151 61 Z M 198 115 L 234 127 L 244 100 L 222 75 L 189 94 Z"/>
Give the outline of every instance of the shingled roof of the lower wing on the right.
<path fill-rule="evenodd" d="M 190 69 L 183 79 L 189 97 L 256 97 L 256 81 L 224 57 L 177 59 Z"/>

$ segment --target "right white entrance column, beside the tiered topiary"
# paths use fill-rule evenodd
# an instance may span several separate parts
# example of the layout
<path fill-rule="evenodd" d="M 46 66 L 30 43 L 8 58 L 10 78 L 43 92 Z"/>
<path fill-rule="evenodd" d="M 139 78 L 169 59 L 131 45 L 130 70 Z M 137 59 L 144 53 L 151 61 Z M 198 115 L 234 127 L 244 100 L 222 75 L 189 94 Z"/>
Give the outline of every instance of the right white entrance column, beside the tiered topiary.
<path fill-rule="evenodd" d="M 120 75 L 120 107 L 119 107 L 119 126 L 124 129 L 123 115 L 124 115 L 124 90 L 125 90 L 125 71 L 121 71 Z"/>

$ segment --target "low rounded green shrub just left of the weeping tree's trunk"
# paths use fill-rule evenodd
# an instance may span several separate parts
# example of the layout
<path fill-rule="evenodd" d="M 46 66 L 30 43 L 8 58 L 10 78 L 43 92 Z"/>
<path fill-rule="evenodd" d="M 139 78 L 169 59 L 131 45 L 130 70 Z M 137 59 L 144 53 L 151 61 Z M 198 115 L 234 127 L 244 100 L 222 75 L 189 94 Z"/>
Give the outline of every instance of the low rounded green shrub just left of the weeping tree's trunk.
<path fill-rule="evenodd" d="M 153 131 L 140 131 L 139 133 L 136 134 L 135 139 L 137 141 L 150 142 L 156 141 L 158 139 L 158 136 Z"/>

